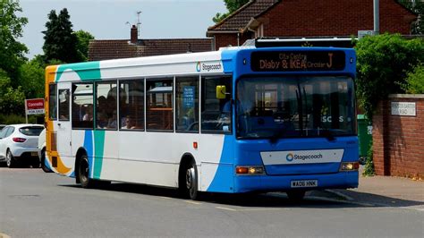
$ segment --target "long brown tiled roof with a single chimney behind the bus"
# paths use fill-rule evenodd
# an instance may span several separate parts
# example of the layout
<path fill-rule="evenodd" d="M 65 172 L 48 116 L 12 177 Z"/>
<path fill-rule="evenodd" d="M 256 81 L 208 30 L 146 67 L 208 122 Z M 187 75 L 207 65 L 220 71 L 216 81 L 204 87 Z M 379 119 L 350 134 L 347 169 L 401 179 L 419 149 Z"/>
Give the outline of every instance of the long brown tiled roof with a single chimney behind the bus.
<path fill-rule="evenodd" d="M 137 27 L 133 25 L 130 39 L 90 40 L 89 61 L 213 50 L 212 38 L 139 39 L 137 35 Z"/>

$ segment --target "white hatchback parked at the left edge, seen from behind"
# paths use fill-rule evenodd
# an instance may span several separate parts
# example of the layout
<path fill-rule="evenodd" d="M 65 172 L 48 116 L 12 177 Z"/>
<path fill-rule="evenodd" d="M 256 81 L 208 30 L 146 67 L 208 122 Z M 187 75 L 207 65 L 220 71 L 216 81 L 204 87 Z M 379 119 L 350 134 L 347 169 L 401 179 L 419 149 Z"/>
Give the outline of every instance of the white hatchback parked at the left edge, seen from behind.
<path fill-rule="evenodd" d="M 8 167 L 19 162 L 39 167 L 38 135 L 44 126 L 40 124 L 11 124 L 0 131 L 0 161 Z"/>

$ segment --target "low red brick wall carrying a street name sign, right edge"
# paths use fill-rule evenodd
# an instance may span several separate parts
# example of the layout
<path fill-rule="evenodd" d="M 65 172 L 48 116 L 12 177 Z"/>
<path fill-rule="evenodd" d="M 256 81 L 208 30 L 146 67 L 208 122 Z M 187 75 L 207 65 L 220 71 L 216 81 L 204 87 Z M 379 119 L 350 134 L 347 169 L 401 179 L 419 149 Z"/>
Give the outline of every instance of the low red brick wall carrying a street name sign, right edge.
<path fill-rule="evenodd" d="M 391 115 L 391 102 L 415 102 L 416 116 Z M 376 173 L 424 178 L 424 95 L 389 98 L 377 108 L 372 133 Z"/>

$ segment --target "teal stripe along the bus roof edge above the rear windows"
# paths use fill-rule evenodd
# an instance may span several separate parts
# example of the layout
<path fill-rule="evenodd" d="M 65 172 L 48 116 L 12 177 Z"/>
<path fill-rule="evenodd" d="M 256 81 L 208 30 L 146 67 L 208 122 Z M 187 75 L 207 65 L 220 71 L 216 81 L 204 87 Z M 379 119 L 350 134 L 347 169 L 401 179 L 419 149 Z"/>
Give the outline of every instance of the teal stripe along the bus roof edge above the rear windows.
<path fill-rule="evenodd" d="M 101 79 L 99 61 L 59 65 L 56 72 L 56 82 L 60 81 L 65 71 L 77 72 L 81 81 L 96 81 Z"/>

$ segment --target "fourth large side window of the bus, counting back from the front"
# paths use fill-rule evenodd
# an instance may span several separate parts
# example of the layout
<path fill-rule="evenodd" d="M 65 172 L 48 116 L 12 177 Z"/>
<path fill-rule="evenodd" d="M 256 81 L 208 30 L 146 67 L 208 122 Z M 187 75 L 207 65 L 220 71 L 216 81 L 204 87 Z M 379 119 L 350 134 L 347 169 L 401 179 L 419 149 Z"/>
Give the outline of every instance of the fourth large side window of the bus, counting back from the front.
<path fill-rule="evenodd" d="M 144 81 L 120 81 L 119 126 L 121 130 L 144 130 Z"/>

